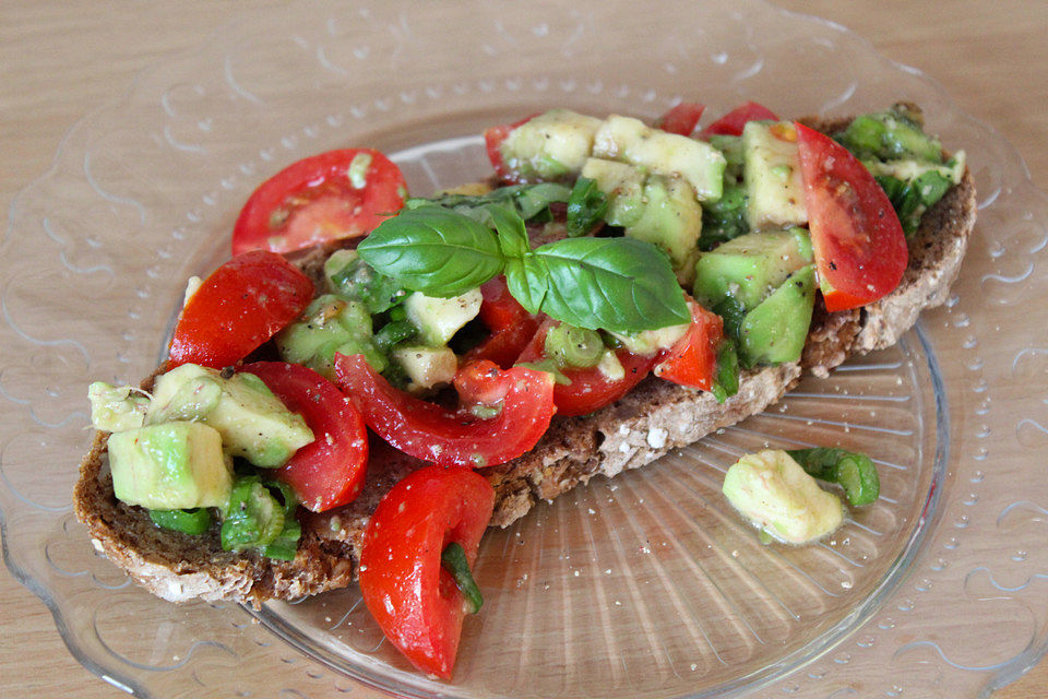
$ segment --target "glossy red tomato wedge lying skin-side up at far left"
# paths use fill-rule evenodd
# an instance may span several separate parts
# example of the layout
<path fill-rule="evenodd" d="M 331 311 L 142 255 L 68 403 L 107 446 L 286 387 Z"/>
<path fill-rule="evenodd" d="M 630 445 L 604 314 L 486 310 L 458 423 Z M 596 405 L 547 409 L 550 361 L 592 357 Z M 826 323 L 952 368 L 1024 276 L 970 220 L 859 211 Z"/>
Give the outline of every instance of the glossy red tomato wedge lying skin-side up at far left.
<path fill-rule="evenodd" d="M 313 283 L 275 252 L 239 254 L 212 272 L 175 325 L 169 367 L 221 369 L 248 356 L 295 319 L 313 298 Z"/>

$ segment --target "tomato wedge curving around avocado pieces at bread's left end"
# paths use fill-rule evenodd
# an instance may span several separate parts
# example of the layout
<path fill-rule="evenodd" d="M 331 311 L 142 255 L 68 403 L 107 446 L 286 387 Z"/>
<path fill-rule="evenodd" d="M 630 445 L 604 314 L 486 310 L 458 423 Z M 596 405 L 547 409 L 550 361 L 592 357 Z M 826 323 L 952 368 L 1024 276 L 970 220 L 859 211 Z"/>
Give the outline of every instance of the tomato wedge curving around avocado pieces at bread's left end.
<path fill-rule="evenodd" d="M 338 387 L 301 365 L 255 362 L 240 370 L 262 379 L 313 430 L 313 441 L 277 469 L 276 477 L 313 512 L 356 499 L 368 466 L 368 428 L 360 411 Z"/>

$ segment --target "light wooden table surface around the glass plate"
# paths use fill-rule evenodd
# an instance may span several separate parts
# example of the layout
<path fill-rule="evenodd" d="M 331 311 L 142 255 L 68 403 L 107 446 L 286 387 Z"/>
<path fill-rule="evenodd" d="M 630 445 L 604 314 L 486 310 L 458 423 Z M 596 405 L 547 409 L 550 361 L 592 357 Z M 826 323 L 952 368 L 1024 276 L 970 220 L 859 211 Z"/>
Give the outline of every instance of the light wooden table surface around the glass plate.
<path fill-rule="evenodd" d="M 141 70 L 273 0 L 0 2 L 0 211 L 50 164 L 66 131 Z M 1048 3 L 779 0 L 834 20 L 943 83 L 996 127 L 1048 189 Z M 124 696 L 67 651 L 45 605 L 0 569 L 0 697 Z M 355 697 L 377 696 L 364 689 Z M 1048 662 L 993 699 L 1048 697 Z"/>

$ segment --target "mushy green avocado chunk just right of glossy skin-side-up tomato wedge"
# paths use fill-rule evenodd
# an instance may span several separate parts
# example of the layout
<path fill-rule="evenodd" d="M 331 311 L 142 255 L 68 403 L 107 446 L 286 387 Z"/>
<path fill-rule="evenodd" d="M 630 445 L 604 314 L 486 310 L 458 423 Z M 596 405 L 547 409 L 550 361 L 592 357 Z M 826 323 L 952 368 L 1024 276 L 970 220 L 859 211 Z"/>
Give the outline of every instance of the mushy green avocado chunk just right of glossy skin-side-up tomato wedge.
<path fill-rule="evenodd" d="M 327 379 L 335 378 L 335 353 L 362 354 L 376 371 L 389 366 L 374 344 L 367 306 L 333 294 L 314 298 L 301 318 L 274 340 L 282 359 L 307 366 Z"/>

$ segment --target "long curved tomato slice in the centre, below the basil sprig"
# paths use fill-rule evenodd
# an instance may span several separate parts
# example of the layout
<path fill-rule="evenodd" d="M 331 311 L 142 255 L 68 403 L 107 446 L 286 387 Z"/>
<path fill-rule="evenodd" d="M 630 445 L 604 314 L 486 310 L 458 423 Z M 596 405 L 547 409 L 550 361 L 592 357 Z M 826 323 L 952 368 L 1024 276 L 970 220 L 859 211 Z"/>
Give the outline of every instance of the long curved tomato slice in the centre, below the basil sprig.
<path fill-rule="evenodd" d="M 553 416 L 553 378 L 545 371 L 487 364 L 485 391 L 502 392 L 498 414 L 479 418 L 446 410 L 390 386 L 364 356 L 335 355 L 338 386 L 379 437 L 404 453 L 442 466 L 492 466 L 535 446 Z"/>

